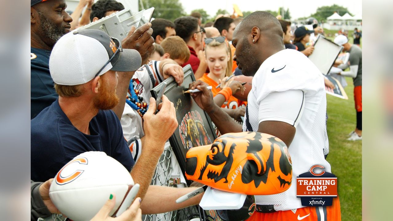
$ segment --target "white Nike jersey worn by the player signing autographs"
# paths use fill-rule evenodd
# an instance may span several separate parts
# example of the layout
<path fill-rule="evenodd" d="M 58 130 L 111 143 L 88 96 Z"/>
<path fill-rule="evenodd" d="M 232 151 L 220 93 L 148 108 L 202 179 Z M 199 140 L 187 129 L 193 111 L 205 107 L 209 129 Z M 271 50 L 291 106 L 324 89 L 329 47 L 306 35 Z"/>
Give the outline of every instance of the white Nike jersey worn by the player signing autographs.
<path fill-rule="evenodd" d="M 299 174 L 309 171 L 315 164 L 320 164 L 327 172 L 331 172 L 330 164 L 325 160 L 323 153 L 324 149 L 329 148 L 323 75 L 297 50 L 286 49 L 277 52 L 259 67 L 252 80 L 252 90 L 248 94 L 243 131 L 258 131 L 259 123 L 266 119 L 283 121 L 278 111 L 268 118 L 260 116 L 259 105 L 264 103 L 263 109 L 268 109 L 266 106 L 270 105 L 269 102 L 263 102 L 266 96 L 273 92 L 288 90 L 301 90 L 304 94 L 304 100 L 299 99 L 299 105 L 288 105 L 285 110 L 279 111 L 285 112 L 286 116 L 292 114 L 292 122 L 288 122 L 288 119 L 284 122 L 296 127 L 294 139 L 288 148 L 292 158 L 292 185 L 283 193 L 255 196 L 257 204 L 274 205 L 275 210 L 304 207 L 300 198 L 296 197 L 296 177 Z M 302 110 L 299 107 L 303 107 Z"/>

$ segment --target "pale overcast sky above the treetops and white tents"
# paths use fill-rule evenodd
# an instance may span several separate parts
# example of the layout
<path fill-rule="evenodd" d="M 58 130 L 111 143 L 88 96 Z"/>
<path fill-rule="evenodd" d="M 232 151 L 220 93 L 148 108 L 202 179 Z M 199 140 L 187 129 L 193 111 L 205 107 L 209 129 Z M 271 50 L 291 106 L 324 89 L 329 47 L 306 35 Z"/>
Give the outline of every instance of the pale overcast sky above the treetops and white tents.
<path fill-rule="evenodd" d="M 241 11 L 278 11 L 283 6 L 289 8 L 292 19 L 308 17 L 321 6 L 337 4 L 346 7 L 353 15 L 362 15 L 362 0 L 180 0 L 185 12 L 191 13 L 193 9 L 203 8 L 210 16 L 214 16 L 218 9 L 226 9 L 233 13 L 232 4 L 237 4 Z"/>

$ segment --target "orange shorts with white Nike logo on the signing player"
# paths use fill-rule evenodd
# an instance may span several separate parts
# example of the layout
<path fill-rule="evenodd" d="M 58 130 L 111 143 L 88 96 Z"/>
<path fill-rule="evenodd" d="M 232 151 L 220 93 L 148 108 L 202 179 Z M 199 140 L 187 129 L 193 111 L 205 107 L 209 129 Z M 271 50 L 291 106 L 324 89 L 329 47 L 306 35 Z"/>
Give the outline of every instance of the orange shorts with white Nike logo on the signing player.
<path fill-rule="evenodd" d="M 247 221 L 341 221 L 340 200 L 333 198 L 332 206 L 307 206 L 297 210 L 285 210 L 272 213 L 255 211 Z"/>

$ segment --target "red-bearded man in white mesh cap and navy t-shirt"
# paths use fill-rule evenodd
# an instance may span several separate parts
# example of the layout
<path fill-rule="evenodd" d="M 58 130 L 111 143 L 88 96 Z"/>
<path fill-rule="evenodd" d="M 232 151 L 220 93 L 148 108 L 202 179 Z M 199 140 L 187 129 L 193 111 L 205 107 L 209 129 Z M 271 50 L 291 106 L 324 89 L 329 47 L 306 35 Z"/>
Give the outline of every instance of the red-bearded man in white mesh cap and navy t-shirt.
<path fill-rule="evenodd" d="M 123 137 L 114 111 L 125 103 L 125 98 L 116 92 L 121 84 L 118 76 L 128 72 L 133 75 L 141 62 L 138 51 L 122 48 L 118 39 L 103 31 L 73 31 L 57 41 L 49 69 L 59 98 L 31 120 L 32 180 L 44 182 L 55 177 L 77 155 L 102 151 L 118 160 L 130 171 L 134 182 L 140 184 L 138 196 L 144 201 L 141 206 L 144 214 L 173 211 L 199 202 L 200 197 L 195 197 L 175 203 L 178 197 L 196 188 L 149 187 L 164 144 L 178 125 L 174 105 L 166 96 L 162 97 L 157 114 L 154 114 L 156 101 L 150 98 L 149 109 L 143 115 L 145 152 L 150 158 L 141 156 L 135 164 Z M 163 73 L 173 71 L 172 76 L 182 70 L 178 65 L 166 65 L 162 69 Z M 164 192 L 170 203 L 156 205 L 156 199 Z"/>

